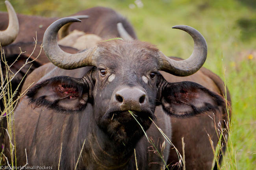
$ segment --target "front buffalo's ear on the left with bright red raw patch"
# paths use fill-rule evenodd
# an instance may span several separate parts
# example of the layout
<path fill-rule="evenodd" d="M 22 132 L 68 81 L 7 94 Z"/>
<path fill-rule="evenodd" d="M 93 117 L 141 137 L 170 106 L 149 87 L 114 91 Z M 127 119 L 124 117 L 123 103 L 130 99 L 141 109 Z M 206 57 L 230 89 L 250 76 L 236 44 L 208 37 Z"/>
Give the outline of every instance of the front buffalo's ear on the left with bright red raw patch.
<path fill-rule="evenodd" d="M 26 95 L 35 107 L 67 113 L 86 107 L 89 89 L 81 79 L 58 76 L 36 84 Z"/>

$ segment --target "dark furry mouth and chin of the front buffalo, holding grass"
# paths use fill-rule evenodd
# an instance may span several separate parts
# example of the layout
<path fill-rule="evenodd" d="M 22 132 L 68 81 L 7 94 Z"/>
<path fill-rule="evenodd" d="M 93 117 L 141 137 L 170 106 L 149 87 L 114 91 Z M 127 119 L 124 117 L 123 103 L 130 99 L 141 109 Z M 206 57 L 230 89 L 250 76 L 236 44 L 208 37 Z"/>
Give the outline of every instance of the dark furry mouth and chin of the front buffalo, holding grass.
<path fill-rule="evenodd" d="M 132 112 L 132 114 L 130 113 Z M 100 127 L 117 143 L 136 143 L 156 117 L 151 110 L 109 110 L 100 120 Z M 143 128 L 143 129 L 142 129 Z"/>

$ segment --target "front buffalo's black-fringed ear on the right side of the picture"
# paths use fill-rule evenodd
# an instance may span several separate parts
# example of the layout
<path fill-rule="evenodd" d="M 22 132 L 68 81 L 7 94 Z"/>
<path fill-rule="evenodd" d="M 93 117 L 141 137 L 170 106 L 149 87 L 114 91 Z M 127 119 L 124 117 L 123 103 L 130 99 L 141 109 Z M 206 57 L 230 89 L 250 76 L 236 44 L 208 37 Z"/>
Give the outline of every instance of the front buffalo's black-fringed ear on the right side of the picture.
<path fill-rule="evenodd" d="M 214 111 L 224 105 L 222 96 L 191 81 L 168 83 L 160 100 L 163 110 L 177 117 L 195 116 L 202 112 Z"/>

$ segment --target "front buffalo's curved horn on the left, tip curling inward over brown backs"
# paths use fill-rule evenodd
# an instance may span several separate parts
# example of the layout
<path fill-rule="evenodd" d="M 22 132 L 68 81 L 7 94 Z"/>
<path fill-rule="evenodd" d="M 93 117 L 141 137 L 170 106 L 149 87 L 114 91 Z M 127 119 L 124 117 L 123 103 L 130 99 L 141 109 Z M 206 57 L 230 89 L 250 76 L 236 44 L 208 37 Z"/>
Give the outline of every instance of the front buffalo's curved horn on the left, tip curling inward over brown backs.
<path fill-rule="evenodd" d="M 43 49 L 46 56 L 54 65 L 61 69 L 71 70 L 85 66 L 94 66 L 93 54 L 96 51 L 96 47 L 77 54 L 70 54 L 59 48 L 57 40 L 58 31 L 63 25 L 70 22 L 81 22 L 81 20 L 69 17 L 61 18 L 46 29 L 43 37 Z"/>

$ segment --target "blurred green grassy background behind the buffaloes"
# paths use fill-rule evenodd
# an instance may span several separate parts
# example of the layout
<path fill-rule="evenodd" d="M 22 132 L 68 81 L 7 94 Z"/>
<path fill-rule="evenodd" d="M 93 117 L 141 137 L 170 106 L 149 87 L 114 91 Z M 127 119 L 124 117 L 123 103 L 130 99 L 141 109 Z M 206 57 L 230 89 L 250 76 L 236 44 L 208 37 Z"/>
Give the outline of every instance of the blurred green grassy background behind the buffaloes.
<path fill-rule="evenodd" d="M 232 96 L 231 142 L 237 169 L 256 167 L 256 2 L 255 0 L 9 0 L 21 14 L 68 16 L 105 6 L 128 18 L 138 39 L 167 56 L 187 58 L 192 38 L 174 25 L 194 27 L 206 38 L 204 67 L 226 81 Z M 6 11 L 0 0 L 0 11 Z M 33 40 L 32 40 L 33 41 Z M 233 169 L 230 167 L 230 169 Z"/>

